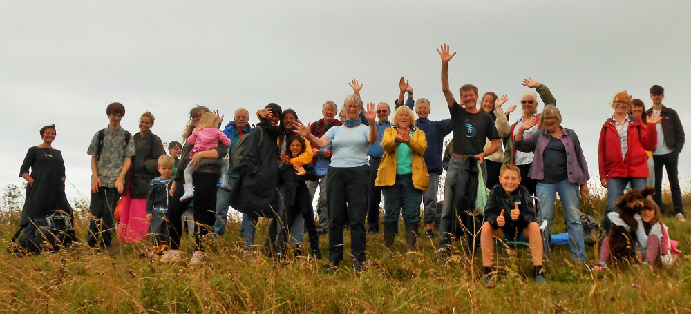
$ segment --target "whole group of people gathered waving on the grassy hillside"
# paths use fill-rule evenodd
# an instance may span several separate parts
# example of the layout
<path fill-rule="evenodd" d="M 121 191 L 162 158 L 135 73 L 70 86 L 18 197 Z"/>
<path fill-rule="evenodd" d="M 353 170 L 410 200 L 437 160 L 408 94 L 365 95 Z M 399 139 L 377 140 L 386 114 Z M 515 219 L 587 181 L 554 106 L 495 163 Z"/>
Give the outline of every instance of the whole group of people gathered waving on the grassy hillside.
<path fill-rule="evenodd" d="M 366 259 L 368 233 L 380 231 L 383 196 L 386 256 L 399 233 L 401 216 L 407 250 L 415 250 L 423 205 L 424 235 L 433 239 L 435 228 L 439 230 L 437 257 L 450 255 L 452 241 L 464 235 L 469 256 L 481 248 L 489 280 L 494 239 L 524 238 L 531 246 L 536 282 L 545 282 L 543 247 L 549 243 L 559 195 L 572 259 L 585 263 L 579 195 L 587 195 L 590 175 L 578 135 L 561 125 L 562 115 L 549 88 L 534 79 L 522 81 L 535 92 L 522 95 L 522 116 L 510 124 L 516 106 L 504 110 L 509 100 L 505 95 L 486 92 L 480 98 L 477 87 L 465 84 L 456 101 L 448 83 L 448 63 L 455 52 L 446 45 L 437 52 L 450 113 L 449 119 L 438 121 L 428 119 L 430 101 L 415 100 L 403 77 L 394 112 L 386 102 L 364 106 L 362 84 L 353 80 L 353 94 L 345 98 L 341 111 L 336 103 L 326 101 L 321 106 L 323 119 L 312 124 L 304 124 L 294 110 L 272 103 L 256 112 L 256 126 L 249 124 L 249 111 L 240 108 L 233 121 L 220 129 L 223 116 L 196 106 L 189 111 L 183 144 L 171 142 L 168 147 L 171 157 L 165 155 L 160 137 L 151 132 L 155 120 L 151 112 L 141 115 L 140 132 L 131 135 L 120 126 L 124 106 L 108 105 L 108 127 L 93 135 L 87 150 L 92 219 L 86 243 L 110 246 L 118 216 L 121 241 L 138 242 L 153 234 L 161 260 L 180 261 L 182 220 L 191 208 L 196 249 L 189 264 L 198 264 L 204 258 L 205 237 L 225 233 L 232 206 L 243 213 L 240 232 L 247 255 L 255 248 L 258 219 L 266 217 L 273 220 L 264 247 L 279 258 L 285 257 L 291 242 L 299 244 L 302 253 L 306 228 L 310 254 L 321 259 L 319 235 L 328 233 L 328 270 L 333 271 L 343 260 L 343 230 L 350 228 L 353 268 L 359 271 Z M 538 95 L 545 105 L 542 112 L 538 112 Z M 616 223 L 609 213 L 616 212 L 616 201 L 627 185 L 641 190 L 654 184 L 654 203 L 661 206 L 663 167 L 676 219 L 684 219 L 677 173 L 683 127 L 676 112 L 663 106 L 661 86 L 653 86 L 650 97 L 653 106 L 645 110 L 641 100 L 618 92 L 611 104 L 612 117 L 603 125 L 599 173 L 608 190 L 605 230 Z M 56 208 L 71 213 L 64 195 L 64 162 L 59 150 L 52 148 L 55 130 L 55 126 L 41 128 L 43 143 L 30 148 L 21 166 L 20 176 L 28 182 L 21 224 Z M 444 153 L 449 133 L 453 141 Z M 439 211 L 437 192 L 444 170 Z M 477 210 L 476 199 L 483 193 L 478 186 L 490 190 L 480 210 L 484 215 Z M 312 200 L 318 187 L 315 219 Z M 537 210 L 534 198 L 539 200 Z M 114 215 L 116 207 L 119 215 Z M 547 222 L 547 243 L 538 227 L 542 221 Z"/>

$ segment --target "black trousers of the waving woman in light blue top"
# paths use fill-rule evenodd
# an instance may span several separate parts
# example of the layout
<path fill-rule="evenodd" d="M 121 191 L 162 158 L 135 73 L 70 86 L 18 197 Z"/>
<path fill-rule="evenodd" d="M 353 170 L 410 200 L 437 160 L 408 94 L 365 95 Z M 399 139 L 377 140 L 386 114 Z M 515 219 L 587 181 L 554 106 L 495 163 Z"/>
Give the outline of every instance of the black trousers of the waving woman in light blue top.
<path fill-rule="evenodd" d="M 350 218 L 350 253 L 355 262 L 365 262 L 367 190 L 370 166 L 329 167 L 327 198 L 329 202 L 329 262 L 343 260 L 343 222 Z M 364 197 L 363 197 L 364 196 Z M 348 206 L 346 206 L 348 204 Z"/>

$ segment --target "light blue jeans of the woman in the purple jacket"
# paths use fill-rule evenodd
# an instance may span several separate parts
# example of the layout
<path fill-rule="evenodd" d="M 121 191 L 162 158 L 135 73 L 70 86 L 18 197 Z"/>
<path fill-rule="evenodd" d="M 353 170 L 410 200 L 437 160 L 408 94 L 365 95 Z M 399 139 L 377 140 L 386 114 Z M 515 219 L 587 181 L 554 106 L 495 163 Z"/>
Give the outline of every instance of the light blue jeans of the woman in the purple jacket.
<path fill-rule="evenodd" d="M 559 181 L 557 183 L 543 184 L 538 182 L 535 190 L 540 199 L 540 214 L 542 219 L 547 221 L 547 228 L 545 228 L 545 243 L 549 243 L 551 234 L 549 228 L 552 224 L 552 217 L 554 216 L 554 204 L 556 204 L 556 195 L 559 193 L 559 199 L 564 206 L 564 216 L 566 217 L 566 226 L 569 233 L 569 249 L 571 250 L 571 258 L 574 262 L 585 262 L 585 244 L 583 239 L 583 224 L 580 223 L 580 210 L 578 210 L 580 185 L 569 182 L 569 179 Z"/>

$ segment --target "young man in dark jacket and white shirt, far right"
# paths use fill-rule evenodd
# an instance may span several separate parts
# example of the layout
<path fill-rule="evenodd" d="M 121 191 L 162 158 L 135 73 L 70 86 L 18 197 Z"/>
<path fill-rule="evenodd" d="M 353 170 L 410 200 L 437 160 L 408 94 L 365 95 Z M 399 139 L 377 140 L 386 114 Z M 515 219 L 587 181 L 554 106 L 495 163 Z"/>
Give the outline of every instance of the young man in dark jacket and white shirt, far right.
<path fill-rule="evenodd" d="M 657 126 L 657 148 L 652 152 L 652 161 L 655 165 L 655 195 L 654 200 L 662 208 L 662 167 L 667 169 L 667 178 L 672 189 L 672 202 L 676 219 L 684 222 L 684 204 L 679 188 L 679 153 L 684 147 L 684 128 L 676 111 L 665 107 L 662 99 L 665 98 L 665 89 L 659 85 L 650 88 L 652 108 L 645 113 L 650 117 L 653 112 L 661 115 Z"/>

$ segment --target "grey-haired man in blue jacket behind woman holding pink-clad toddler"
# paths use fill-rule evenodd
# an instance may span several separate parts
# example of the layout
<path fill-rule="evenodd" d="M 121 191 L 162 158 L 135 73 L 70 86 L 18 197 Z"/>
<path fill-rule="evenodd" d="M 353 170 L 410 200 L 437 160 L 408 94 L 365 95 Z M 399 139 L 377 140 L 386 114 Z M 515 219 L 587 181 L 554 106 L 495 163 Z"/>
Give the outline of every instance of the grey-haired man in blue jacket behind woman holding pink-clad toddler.
<path fill-rule="evenodd" d="M 235 117 L 233 121 L 228 122 L 228 124 L 225 126 L 223 133 L 230 139 L 228 156 L 230 155 L 230 152 L 233 151 L 233 148 L 238 145 L 240 139 L 243 138 L 243 135 L 246 135 L 252 130 L 253 126 L 250 126 L 248 122 L 249 111 L 247 111 L 245 108 L 240 108 L 235 110 Z M 228 186 L 232 189 L 238 180 L 238 175 L 233 173 L 233 170 L 231 169 L 232 167 L 228 167 Z M 220 186 L 220 181 L 218 184 Z M 214 223 L 214 230 L 221 237 L 223 237 L 223 234 L 225 233 L 225 223 L 228 219 L 229 196 L 229 190 L 225 190 L 224 188 L 219 188 L 218 192 L 216 193 L 216 222 Z M 243 225 L 240 227 L 243 229 L 247 222 L 245 215 L 247 214 L 243 214 Z M 240 233 L 242 232 L 243 231 L 240 230 Z"/>

